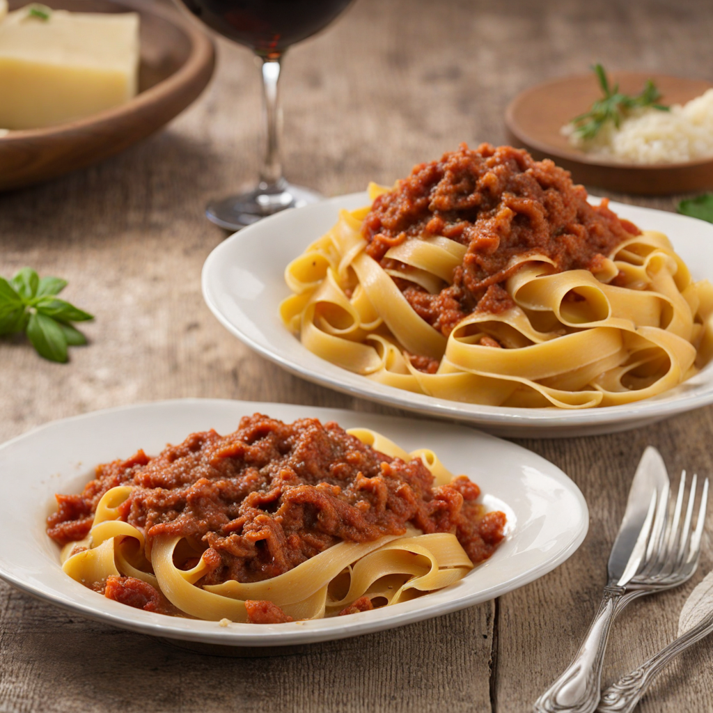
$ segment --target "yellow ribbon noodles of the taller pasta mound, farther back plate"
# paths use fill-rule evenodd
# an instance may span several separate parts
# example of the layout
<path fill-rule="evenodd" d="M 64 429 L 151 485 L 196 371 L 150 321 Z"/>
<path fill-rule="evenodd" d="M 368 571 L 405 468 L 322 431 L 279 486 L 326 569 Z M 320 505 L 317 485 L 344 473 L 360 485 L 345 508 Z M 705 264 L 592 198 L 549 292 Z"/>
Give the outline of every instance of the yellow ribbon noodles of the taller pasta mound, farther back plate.
<path fill-rule="evenodd" d="M 509 147 L 495 151 L 505 148 L 524 154 Z M 462 154 L 461 148 L 456 158 Z M 527 158 L 530 171 L 542 173 L 543 164 Z M 567 180 L 567 190 L 580 200 L 578 187 Z M 384 194 L 398 198 L 405 183 L 393 190 L 371 184 L 369 197 L 372 202 Z M 501 215 L 516 213 L 503 207 L 506 202 L 525 210 L 503 193 Z M 388 245 L 397 244 L 387 245 L 383 259 L 376 260 L 365 237 L 369 211 L 342 210 L 332 230 L 287 266 L 285 280 L 293 294 L 280 306 L 284 324 L 304 347 L 366 379 L 473 404 L 585 409 L 661 394 L 713 356 L 713 287 L 692 280 L 660 232 L 625 233 L 628 237 L 591 270 L 560 270 L 552 255 L 536 247 L 514 254 L 499 282 L 506 308 L 481 309 L 478 303 L 444 334 L 405 295 L 410 290 L 435 299 L 447 292 L 473 250 L 425 230 L 401 232 L 389 239 Z M 406 229 L 394 233 L 398 230 Z M 437 368 L 419 369 L 412 355 Z"/>

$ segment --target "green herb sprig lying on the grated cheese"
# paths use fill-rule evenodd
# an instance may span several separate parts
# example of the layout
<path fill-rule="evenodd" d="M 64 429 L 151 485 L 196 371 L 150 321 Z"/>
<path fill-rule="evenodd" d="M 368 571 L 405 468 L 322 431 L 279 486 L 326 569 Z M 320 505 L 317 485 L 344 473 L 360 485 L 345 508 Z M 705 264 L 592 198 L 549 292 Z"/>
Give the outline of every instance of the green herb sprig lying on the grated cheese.
<path fill-rule="evenodd" d="M 610 86 L 607 73 L 600 63 L 595 64 L 592 70 L 597 76 L 604 98 L 597 99 L 588 112 L 575 116 L 570 121 L 570 124 L 575 127 L 573 135 L 576 138 L 591 140 L 607 123 L 612 123 L 616 128 L 619 128 L 622 119 L 633 109 L 650 106 L 658 111 L 670 111 L 670 107 L 657 103 L 661 98 L 661 93 L 652 80 L 647 79 L 641 93 L 630 96 L 620 92 L 618 84 Z"/>

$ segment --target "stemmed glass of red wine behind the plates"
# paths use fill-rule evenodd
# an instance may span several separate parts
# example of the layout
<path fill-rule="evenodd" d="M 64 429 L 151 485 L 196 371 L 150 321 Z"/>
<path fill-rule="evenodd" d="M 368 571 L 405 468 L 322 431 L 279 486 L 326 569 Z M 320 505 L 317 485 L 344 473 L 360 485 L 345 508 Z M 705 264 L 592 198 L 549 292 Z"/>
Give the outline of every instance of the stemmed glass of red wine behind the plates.
<path fill-rule="evenodd" d="M 223 36 L 250 47 L 262 71 L 265 157 L 260 183 L 247 193 L 210 202 L 209 220 L 240 230 L 285 208 L 321 200 L 309 188 L 282 175 L 279 73 L 284 51 L 327 26 L 352 0 L 180 0 L 196 17 Z"/>

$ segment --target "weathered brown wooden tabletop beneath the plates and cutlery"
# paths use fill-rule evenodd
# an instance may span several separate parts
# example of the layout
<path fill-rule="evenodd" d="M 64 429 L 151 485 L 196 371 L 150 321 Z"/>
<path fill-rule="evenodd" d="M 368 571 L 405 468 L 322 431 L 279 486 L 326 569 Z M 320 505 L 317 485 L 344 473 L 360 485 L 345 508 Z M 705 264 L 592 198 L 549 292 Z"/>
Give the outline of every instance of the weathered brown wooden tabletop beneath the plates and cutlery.
<path fill-rule="evenodd" d="M 389 183 L 461 140 L 501 142 L 515 93 L 596 60 L 712 80 L 711 36 L 713 6 L 697 0 L 358 0 L 287 56 L 287 173 L 326 195 Z M 66 366 L 19 339 L 0 342 L 0 440 L 63 416 L 178 396 L 384 411 L 280 371 L 202 302 L 200 267 L 225 237 L 202 208 L 255 177 L 258 102 L 250 53 L 221 42 L 209 90 L 167 130 L 96 168 L 0 195 L 0 274 L 31 265 L 66 277 L 68 299 L 96 314 L 91 346 L 72 349 Z M 0 584 L 0 712 L 527 710 L 597 606 L 642 449 L 660 448 L 674 473 L 711 473 L 712 431 L 713 409 L 702 409 L 625 434 L 523 441 L 589 503 L 590 533 L 567 563 L 498 602 L 300 655 L 185 652 Z M 712 537 L 709 527 L 694 581 L 622 615 L 607 681 L 674 636 L 685 598 L 713 566 Z M 640 710 L 711 711 L 710 646 L 681 657 Z"/>

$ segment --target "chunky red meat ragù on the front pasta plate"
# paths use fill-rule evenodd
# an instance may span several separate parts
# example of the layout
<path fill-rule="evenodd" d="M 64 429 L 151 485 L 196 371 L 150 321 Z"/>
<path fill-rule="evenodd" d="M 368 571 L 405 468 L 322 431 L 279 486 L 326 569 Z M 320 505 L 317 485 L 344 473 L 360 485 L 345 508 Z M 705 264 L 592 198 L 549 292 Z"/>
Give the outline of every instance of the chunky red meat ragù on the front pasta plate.
<path fill-rule="evenodd" d="M 503 513 L 486 513 L 465 476 L 434 487 L 419 459 L 391 458 L 317 419 L 284 424 L 255 414 L 227 436 L 195 433 L 153 458 L 138 451 L 98 466 L 82 493 L 56 496 L 48 535 L 60 544 L 86 537 L 98 502 L 116 486 L 133 487 L 119 519 L 148 545 L 158 535 L 180 535 L 205 548 L 210 569 L 199 586 L 266 580 L 342 540 L 402 535 L 406 525 L 455 533 L 476 564 L 493 553 L 506 523 Z M 163 595 L 152 590 L 133 578 L 109 578 L 104 593 L 165 610 Z M 255 622 L 277 617 L 270 602 L 251 602 L 249 610 Z"/>

